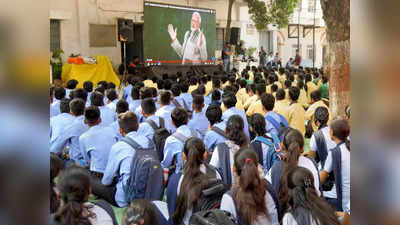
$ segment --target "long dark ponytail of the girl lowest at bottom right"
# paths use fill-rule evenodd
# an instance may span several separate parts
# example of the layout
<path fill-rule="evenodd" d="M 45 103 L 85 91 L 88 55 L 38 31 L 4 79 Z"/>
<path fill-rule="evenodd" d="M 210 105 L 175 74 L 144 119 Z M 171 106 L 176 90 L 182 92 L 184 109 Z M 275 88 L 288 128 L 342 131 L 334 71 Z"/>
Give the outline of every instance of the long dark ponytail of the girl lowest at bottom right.
<path fill-rule="evenodd" d="M 314 187 L 313 174 L 304 167 L 295 167 L 287 177 L 290 212 L 299 224 L 339 225 L 335 211 L 321 199 Z M 300 216 L 306 213 L 306 215 Z M 299 215 L 299 216 L 297 216 Z"/>

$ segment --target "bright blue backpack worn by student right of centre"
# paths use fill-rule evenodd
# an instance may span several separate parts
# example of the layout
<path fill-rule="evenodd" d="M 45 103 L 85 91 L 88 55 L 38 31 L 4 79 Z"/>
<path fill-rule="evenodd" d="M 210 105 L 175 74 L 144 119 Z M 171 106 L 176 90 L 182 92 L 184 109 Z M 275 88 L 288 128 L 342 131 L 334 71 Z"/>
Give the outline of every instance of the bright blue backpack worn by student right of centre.
<path fill-rule="evenodd" d="M 283 155 L 283 153 L 279 147 L 279 138 L 273 133 L 271 133 L 270 135 L 271 135 L 273 141 L 271 141 L 268 138 L 258 136 L 253 140 L 253 142 L 251 142 L 251 145 L 253 146 L 254 150 L 258 154 L 259 163 L 261 165 L 263 165 L 264 171 L 266 173 L 271 169 L 271 167 L 274 165 L 274 162 L 276 160 L 282 159 L 282 155 Z M 264 155 L 264 153 L 263 153 L 262 143 L 269 146 L 268 152 L 266 155 Z"/>

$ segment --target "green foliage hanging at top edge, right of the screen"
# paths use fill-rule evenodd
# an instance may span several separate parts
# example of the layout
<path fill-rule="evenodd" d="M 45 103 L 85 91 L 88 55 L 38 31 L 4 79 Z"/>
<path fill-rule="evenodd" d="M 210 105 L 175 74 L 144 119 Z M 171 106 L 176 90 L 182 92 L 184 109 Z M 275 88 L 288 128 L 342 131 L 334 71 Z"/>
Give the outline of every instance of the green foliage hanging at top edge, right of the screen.
<path fill-rule="evenodd" d="M 264 30 L 269 24 L 279 28 L 287 27 L 289 18 L 298 0 L 247 0 L 249 14 L 257 30 Z"/>

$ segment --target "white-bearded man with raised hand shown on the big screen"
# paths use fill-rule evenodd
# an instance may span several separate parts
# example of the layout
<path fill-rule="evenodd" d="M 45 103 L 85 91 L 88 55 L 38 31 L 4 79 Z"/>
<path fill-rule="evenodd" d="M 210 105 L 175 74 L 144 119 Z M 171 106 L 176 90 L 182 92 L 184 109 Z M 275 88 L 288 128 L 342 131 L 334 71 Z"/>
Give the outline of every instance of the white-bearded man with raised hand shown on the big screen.
<path fill-rule="evenodd" d="M 206 38 L 200 26 L 201 16 L 198 12 L 194 12 L 190 31 L 186 31 L 183 45 L 181 45 L 176 38 L 177 28 L 174 29 L 172 24 L 168 25 L 168 33 L 172 40 L 171 47 L 182 58 L 182 64 L 200 64 L 201 60 L 207 60 Z"/>

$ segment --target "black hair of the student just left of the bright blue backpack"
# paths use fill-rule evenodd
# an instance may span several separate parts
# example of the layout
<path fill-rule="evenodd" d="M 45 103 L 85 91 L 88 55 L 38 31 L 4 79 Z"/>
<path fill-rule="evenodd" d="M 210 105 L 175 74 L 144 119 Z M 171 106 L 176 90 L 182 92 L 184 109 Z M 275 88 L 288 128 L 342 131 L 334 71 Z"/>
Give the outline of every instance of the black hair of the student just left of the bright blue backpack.
<path fill-rule="evenodd" d="M 225 133 L 228 140 L 233 141 L 236 145 L 246 146 L 249 140 L 243 131 L 244 122 L 239 115 L 232 115 L 226 123 Z"/>

